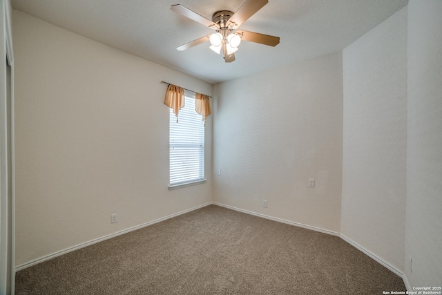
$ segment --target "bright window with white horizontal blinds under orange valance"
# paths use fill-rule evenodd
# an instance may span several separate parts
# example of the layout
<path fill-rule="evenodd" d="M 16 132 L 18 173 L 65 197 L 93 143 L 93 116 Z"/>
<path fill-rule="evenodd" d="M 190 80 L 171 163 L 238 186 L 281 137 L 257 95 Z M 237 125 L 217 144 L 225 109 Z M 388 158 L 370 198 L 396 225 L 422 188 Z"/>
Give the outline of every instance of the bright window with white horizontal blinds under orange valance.
<path fill-rule="evenodd" d="M 185 93 L 184 108 L 169 115 L 169 189 L 204 182 L 204 122 L 195 111 L 195 96 Z"/>

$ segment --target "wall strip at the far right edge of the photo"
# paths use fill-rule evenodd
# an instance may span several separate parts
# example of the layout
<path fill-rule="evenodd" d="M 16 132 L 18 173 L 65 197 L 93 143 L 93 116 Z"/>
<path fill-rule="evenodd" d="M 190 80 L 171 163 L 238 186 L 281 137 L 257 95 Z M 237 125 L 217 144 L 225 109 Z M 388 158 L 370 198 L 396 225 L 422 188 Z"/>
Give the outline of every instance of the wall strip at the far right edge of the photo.
<path fill-rule="evenodd" d="M 441 16 L 440 0 L 408 4 L 405 275 L 412 287 L 442 285 Z"/>

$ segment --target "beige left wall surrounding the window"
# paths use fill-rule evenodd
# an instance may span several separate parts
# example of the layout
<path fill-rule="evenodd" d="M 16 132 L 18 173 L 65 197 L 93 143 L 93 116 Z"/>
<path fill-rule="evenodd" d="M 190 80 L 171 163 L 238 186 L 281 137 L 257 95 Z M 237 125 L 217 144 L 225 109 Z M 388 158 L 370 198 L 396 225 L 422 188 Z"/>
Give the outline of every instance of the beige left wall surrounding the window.
<path fill-rule="evenodd" d="M 211 202 L 169 191 L 161 80 L 212 85 L 14 11 L 17 265 Z M 111 213 L 118 222 L 111 224 Z"/>

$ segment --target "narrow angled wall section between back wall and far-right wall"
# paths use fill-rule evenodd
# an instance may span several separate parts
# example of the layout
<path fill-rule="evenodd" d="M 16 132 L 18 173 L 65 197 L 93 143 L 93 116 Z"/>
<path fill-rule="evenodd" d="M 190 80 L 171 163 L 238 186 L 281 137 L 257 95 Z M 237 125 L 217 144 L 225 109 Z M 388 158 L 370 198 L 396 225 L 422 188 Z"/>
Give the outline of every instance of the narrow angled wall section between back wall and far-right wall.
<path fill-rule="evenodd" d="M 403 272 L 407 8 L 343 50 L 341 234 Z"/>

